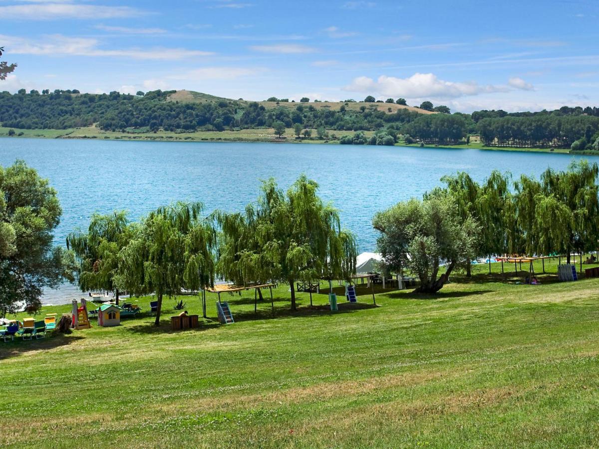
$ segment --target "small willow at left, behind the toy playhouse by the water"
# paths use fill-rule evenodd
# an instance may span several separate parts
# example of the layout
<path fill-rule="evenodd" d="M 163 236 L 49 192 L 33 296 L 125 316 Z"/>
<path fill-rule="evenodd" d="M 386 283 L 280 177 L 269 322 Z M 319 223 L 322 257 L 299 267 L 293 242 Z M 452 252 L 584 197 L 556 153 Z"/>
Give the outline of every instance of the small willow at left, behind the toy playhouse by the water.
<path fill-rule="evenodd" d="M 114 277 L 119 268 L 119 252 L 128 243 L 132 228 L 125 211 L 93 214 L 87 232 L 77 229 L 66 237 L 66 247 L 77 260 L 77 284 L 83 291 L 114 292 L 119 304 L 119 288 Z"/>

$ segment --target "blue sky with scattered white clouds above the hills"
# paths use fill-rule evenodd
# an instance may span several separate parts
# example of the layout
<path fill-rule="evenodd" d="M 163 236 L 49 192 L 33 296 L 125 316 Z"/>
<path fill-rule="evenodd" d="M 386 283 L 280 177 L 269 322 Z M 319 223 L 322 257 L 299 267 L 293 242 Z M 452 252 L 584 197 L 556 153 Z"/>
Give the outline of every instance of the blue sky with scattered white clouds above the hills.
<path fill-rule="evenodd" d="M 0 0 L 0 90 L 599 105 L 599 0 Z"/>

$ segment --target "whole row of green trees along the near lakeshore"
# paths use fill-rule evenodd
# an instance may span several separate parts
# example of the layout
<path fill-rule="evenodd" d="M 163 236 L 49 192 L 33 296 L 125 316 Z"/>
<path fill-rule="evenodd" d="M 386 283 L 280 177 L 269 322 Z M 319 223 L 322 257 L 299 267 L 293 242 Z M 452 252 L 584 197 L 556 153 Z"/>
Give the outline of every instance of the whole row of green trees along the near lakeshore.
<path fill-rule="evenodd" d="M 582 161 L 539 180 L 497 171 L 483 183 L 465 172 L 443 177 L 445 186 L 422 200 L 374 216 L 380 268 L 410 272 L 417 292 L 435 293 L 454 270 L 469 275 L 478 257 L 556 253 L 570 263 L 570 253 L 598 246 L 598 175 L 596 163 Z M 62 280 L 114 291 L 117 301 L 123 290 L 155 294 L 160 311 L 164 296 L 213 286 L 217 276 L 245 286 L 288 283 L 295 310 L 297 281 L 355 273 L 355 236 L 304 175 L 286 192 L 264 181 L 258 201 L 240 213 L 204 214 L 199 202 L 177 202 L 137 222 L 124 211 L 94 214 L 86 230 L 68 235 L 67 248 L 52 244 L 61 213 L 56 191 L 34 169 L 23 161 L 0 167 L 0 317 L 22 301 L 37 310 L 43 287 Z"/>

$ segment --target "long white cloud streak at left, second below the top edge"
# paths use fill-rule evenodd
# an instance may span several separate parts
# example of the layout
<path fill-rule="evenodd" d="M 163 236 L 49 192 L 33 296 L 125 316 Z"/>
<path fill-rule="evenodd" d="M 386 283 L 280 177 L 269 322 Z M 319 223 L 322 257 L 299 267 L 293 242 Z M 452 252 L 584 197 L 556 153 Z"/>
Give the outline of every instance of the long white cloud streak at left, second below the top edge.
<path fill-rule="evenodd" d="M 133 59 L 177 60 L 189 57 L 210 56 L 210 51 L 187 50 L 186 48 L 123 48 L 104 50 L 98 48 L 99 41 L 93 38 L 51 35 L 43 41 L 0 35 L 0 41 L 10 46 L 14 54 L 37 54 L 53 56 L 117 56 Z"/>

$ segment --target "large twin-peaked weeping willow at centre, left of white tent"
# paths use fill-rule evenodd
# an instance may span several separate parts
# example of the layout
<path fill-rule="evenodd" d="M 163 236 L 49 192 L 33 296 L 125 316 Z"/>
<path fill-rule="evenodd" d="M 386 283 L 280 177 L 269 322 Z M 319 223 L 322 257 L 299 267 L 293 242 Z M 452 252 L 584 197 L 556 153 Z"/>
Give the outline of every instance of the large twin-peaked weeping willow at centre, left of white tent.
<path fill-rule="evenodd" d="M 305 175 L 284 193 L 264 181 L 256 204 L 244 213 L 217 213 L 221 227 L 217 271 L 240 285 L 349 279 L 356 268 L 353 234 L 341 229 L 338 210 L 323 204 L 318 184 Z"/>

